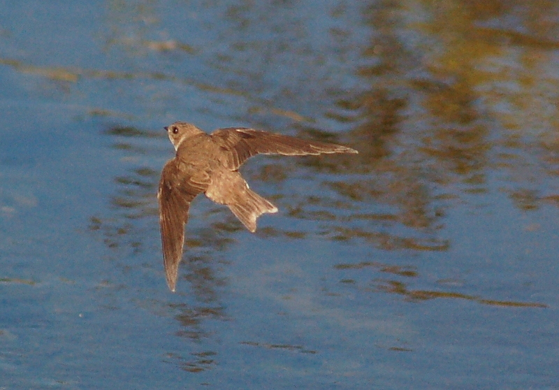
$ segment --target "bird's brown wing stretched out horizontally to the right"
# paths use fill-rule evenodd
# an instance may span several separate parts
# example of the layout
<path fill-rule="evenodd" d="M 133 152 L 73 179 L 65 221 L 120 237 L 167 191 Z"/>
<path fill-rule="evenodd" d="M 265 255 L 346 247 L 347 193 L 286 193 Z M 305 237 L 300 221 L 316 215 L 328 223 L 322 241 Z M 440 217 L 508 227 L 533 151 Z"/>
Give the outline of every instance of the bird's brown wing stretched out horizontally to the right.
<path fill-rule="evenodd" d="M 228 152 L 223 163 L 233 171 L 237 170 L 249 157 L 256 154 L 303 156 L 305 154 L 357 153 L 357 150 L 347 146 L 302 140 L 254 129 L 231 127 L 219 129 L 211 136 L 222 151 Z"/>

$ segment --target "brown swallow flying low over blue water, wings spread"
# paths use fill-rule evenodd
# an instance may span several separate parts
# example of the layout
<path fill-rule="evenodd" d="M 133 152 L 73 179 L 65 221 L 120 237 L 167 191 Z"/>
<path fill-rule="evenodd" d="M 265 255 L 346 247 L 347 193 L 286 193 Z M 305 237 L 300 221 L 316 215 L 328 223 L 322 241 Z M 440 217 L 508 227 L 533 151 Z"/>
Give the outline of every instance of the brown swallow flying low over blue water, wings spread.
<path fill-rule="evenodd" d="M 277 212 L 277 208 L 249 189 L 238 171 L 245 160 L 256 154 L 357 153 L 347 146 L 242 127 L 218 129 L 208 134 L 193 124 L 175 122 L 165 130 L 177 151 L 161 172 L 157 194 L 164 266 L 171 291 L 175 291 L 182 259 L 184 225 L 190 202 L 196 195 L 203 192 L 215 203 L 227 205 L 254 232 L 256 219 L 265 212 Z"/>

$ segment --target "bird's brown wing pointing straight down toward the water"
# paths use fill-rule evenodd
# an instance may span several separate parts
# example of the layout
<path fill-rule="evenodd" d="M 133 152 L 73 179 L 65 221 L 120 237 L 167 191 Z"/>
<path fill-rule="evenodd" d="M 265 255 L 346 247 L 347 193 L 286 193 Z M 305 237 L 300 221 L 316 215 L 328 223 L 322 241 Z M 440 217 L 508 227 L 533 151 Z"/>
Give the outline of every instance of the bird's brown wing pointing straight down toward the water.
<path fill-rule="evenodd" d="M 194 181 L 184 164 L 172 159 L 165 164 L 159 180 L 159 225 L 167 284 L 175 291 L 182 259 L 184 224 L 188 221 L 190 202 L 208 187 L 203 180 Z"/>

